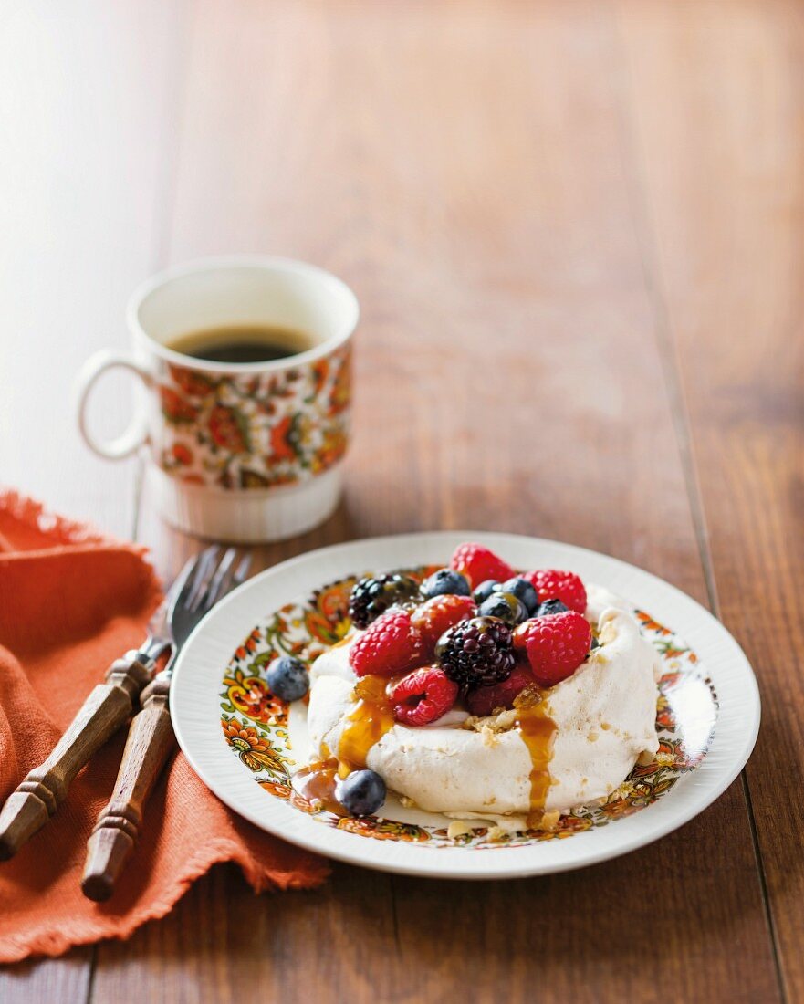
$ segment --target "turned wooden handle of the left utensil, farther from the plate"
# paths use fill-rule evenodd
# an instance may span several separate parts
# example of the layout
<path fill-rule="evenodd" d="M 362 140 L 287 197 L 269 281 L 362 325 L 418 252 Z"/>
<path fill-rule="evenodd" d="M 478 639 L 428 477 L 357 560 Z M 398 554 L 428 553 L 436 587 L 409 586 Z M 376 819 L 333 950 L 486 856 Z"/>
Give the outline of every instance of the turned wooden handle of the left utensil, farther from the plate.
<path fill-rule="evenodd" d="M 130 716 L 151 674 L 136 652 L 111 664 L 81 705 L 53 752 L 29 771 L 0 812 L 0 860 L 41 829 L 67 795 L 72 779 Z"/>

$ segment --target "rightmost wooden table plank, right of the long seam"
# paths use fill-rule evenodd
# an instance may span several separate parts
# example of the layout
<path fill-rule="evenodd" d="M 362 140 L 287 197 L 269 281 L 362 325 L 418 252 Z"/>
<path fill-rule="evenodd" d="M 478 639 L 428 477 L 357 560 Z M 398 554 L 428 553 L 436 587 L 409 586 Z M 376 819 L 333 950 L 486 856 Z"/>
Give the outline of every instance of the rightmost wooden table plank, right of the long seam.
<path fill-rule="evenodd" d="M 638 6 L 638 11 L 637 11 Z M 789 1000 L 804 999 L 804 16 L 623 4 L 655 295 L 678 349 L 719 613 L 754 664 L 748 771 Z M 706 52 L 706 62 L 701 55 Z M 682 154 L 696 149 L 694 163 Z"/>

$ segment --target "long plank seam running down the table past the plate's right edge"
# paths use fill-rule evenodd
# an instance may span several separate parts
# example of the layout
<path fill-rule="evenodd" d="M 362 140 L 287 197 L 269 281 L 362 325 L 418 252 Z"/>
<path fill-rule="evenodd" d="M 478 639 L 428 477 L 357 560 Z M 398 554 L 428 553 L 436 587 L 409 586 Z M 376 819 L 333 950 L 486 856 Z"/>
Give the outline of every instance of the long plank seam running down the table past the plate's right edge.
<path fill-rule="evenodd" d="M 690 504 L 690 513 L 695 527 L 696 541 L 704 572 L 707 599 L 712 613 L 720 619 L 720 600 L 718 597 L 717 580 L 710 547 L 709 532 L 707 529 L 703 492 L 701 490 L 701 483 L 698 477 L 698 469 L 695 461 L 695 445 L 693 440 L 692 425 L 690 422 L 689 408 L 684 393 L 684 381 L 681 361 L 679 358 L 679 347 L 673 334 L 673 325 L 669 319 L 666 295 L 661 288 L 661 272 L 656 249 L 657 238 L 655 228 L 650 222 L 650 214 L 647 207 L 645 180 L 643 173 L 640 171 L 641 159 L 638 144 L 636 142 L 635 126 L 631 115 L 628 113 L 628 105 L 625 99 L 625 92 L 628 89 L 628 81 L 622 80 L 623 75 L 627 72 L 625 64 L 625 46 L 616 12 L 613 8 L 609 8 L 609 10 L 613 24 L 615 46 L 620 54 L 620 58 L 617 61 L 619 73 L 617 74 L 618 82 L 616 85 L 620 98 L 618 101 L 620 108 L 619 120 L 623 146 L 628 148 L 629 154 L 627 159 L 623 157 L 623 164 L 631 163 L 634 165 L 631 179 L 633 184 L 629 185 L 627 188 L 628 192 L 631 193 L 631 198 L 629 199 L 631 220 L 636 241 L 639 246 L 639 260 L 642 267 L 645 289 L 654 319 L 651 333 L 656 344 L 659 361 L 664 373 L 664 387 L 669 401 L 674 432 L 676 435 L 677 447 L 679 450 Z M 757 878 L 762 893 L 765 923 L 771 941 L 771 951 L 773 955 L 774 968 L 776 970 L 779 994 L 782 1001 L 787 1001 L 788 994 L 785 985 L 784 972 L 782 969 L 777 931 L 771 909 L 767 874 L 765 863 L 762 858 L 754 805 L 751 798 L 751 789 L 745 769 L 740 772 L 740 779 L 741 789 L 745 799 L 746 813 L 748 815 L 751 830 L 751 840 L 754 846 L 754 856 L 757 862 Z"/>

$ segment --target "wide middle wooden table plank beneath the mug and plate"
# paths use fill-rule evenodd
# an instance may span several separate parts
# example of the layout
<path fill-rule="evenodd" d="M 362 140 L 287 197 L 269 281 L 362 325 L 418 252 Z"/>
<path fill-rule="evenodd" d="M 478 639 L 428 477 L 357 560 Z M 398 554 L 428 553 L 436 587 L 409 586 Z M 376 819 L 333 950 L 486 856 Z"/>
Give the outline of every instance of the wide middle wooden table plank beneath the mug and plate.
<path fill-rule="evenodd" d="M 612 8 L 195 7 L 170 255 L 317 261 L 361 299 L 356 435 L 323 542 L 540 533 L 706 601 L 662 318 L 645 268 Z M 195 545 L 148 500 L 142 538 Z M 92 999 L 773 1001 L 741 785 L 578 873 L 446 884 L 337 866 L 255 899 L 231 869 L 125 945 Z"/>

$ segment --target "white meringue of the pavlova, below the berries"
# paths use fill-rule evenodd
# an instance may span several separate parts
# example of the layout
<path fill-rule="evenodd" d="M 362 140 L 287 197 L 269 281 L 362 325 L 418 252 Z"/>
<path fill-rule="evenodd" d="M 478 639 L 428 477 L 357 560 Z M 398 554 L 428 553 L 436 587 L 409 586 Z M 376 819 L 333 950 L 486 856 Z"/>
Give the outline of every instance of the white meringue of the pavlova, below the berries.
<path fill-rule="evenodd" d="M 655 753 L 658 659 L 639 634 L 627 605 L 587 587 L 587 618 L 600 647 L 569 677 L 544 694 L 556 726 L 544 810 L 568 811 L 605 798 L 642 753 Z M 354 710 L 356 678 L 349 639 L 311 668 L 307 725 L 314 755 L 336 751 Z M 368 750 L 366 765 L 420 808 L 483 818 L 527 816 L 533 766 L 518 728 L 464 728 L 468 713 L 453 709 L 437 722 L 411 728 L 395 723 Z M 510 717 L 510 713 L 509 713 Z"/>

